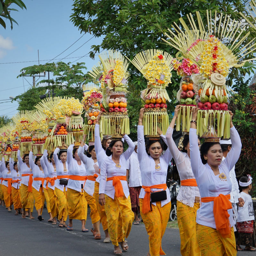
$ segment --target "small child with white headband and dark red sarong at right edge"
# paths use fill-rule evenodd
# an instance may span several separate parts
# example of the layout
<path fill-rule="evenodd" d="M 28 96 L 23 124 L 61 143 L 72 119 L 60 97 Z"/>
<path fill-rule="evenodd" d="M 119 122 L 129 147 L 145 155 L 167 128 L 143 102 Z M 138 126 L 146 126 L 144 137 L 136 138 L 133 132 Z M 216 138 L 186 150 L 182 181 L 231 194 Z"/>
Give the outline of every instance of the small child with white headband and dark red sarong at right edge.
<path fill-rule="evenodd" d="M 238 218 L 237 218 L 237 230 L 239 233 L 239 238 L 237 241 L 237 248 L 241 249 L 239 244 L 245 245 L 244 251 L 254 252 L 256 249 L 255 245 L 255 221 L 252 206 L 252 197 L 249 195 L 249 190 L 252 189 L 252 177 L 247 175 L 246 177 L 241 177 L 239 180 L 239 185 L 242 188 L 240 196 L 244 199 L 244 206 L 238 208 Z M 239 250 L 240 251 L 240 250 Z"/>

